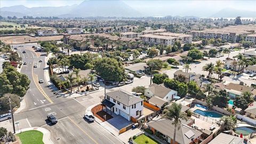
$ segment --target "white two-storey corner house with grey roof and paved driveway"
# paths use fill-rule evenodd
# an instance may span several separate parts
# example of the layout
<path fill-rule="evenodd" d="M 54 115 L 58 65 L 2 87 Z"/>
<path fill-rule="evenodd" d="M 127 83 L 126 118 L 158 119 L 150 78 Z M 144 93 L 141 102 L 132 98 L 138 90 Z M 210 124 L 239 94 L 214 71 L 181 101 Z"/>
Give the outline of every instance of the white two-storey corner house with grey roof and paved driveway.
<path fill-rule="evenodd" d="M 131 116 L 137 118 L 143 115 L 143 99 L 122 89 L 106 93 L 102 104 L 107 106 L 111 113 L 121 115 L 128 121 L 131 121 Z"/>

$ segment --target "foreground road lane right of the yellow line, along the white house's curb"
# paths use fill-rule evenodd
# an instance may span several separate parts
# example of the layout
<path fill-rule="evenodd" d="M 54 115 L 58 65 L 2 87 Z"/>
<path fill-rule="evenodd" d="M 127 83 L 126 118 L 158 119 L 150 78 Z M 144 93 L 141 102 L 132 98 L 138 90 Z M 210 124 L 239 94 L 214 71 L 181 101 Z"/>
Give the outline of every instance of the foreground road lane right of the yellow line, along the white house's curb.
<path fill-rule="evenodd" d="M 84 130 L 87 135 L 90 135 L 90 137 L 97 141 L 97 143 L 122 143 L 114 135 L 110 134 L 107 130 L 100 126 L 97 122 L 87 122 L 83 116 L 84 113 L 81 113 L 69 116 L 69 118 L 74 121 L 78 129 Z"/>

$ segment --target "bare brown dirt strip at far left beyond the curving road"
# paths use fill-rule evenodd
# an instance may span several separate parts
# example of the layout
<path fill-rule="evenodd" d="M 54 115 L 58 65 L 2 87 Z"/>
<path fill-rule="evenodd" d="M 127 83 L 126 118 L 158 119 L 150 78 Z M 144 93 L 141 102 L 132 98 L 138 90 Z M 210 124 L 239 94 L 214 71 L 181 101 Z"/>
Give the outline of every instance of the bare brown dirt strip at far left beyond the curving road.
<path fill-rule="evenodd" d="M 23 44 L 23 43 L 34 43 L 38 41 L 60 41 L 63 36 L 42 36 L 42 37 L 32 37 L 32 36 L 3 36 L 0 40 L 5 44 Z"/>

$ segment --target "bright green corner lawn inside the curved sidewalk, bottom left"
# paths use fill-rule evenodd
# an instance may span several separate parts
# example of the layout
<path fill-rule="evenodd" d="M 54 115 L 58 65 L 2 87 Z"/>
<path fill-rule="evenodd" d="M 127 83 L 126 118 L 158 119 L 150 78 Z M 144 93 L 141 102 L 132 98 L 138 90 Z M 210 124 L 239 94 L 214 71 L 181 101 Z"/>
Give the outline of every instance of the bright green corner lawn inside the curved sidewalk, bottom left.
<path fill-rule="evenodd" d="M 17 134 L 22 144 L 43 144 L 43 133 L 39 131 L 25 131 Z"/>

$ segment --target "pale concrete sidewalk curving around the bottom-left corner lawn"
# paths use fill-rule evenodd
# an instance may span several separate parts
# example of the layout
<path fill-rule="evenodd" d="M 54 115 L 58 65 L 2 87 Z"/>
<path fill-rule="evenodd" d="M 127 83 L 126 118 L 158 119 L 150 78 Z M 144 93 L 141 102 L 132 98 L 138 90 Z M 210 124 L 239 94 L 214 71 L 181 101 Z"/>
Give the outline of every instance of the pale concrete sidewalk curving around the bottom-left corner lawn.
<path fill-rule="evenodd" d="M 29 127 L 26 129 L 21 129 L 21 130 L 17 131 L 16 134 L 25 132 L 25 131 L 31 131 L 31 130 L 36 130 L 36 131 L 42 132 L 43 133 L 43 142 L 45 144 L 53 144 L 53 142 L 51 141 L 50 131 L 47 129 L 44 129 L 43 127 Z"/>

